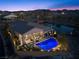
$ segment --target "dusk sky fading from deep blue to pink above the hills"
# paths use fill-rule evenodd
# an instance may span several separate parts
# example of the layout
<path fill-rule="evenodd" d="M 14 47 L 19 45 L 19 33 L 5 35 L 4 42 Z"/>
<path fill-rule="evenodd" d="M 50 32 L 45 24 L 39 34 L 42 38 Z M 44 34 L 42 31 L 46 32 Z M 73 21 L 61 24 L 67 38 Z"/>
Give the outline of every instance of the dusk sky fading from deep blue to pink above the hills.
<path fill-rule="evenodd" d="M 79 9 L 79 0 L 0 0 L 0 10 Z"/>

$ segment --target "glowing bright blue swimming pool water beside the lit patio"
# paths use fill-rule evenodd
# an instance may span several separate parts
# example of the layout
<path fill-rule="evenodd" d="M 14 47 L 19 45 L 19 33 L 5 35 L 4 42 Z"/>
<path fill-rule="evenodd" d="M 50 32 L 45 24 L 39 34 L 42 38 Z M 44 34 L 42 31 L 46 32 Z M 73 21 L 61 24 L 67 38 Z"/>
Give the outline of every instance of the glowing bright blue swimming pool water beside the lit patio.
<path fill-rule="evenodd" d="M 39 43 L 36 43 L 36 45 L 45 50 L 45 51 L 48 51 L 54 47 L 56 47 L 58 45 L 58 42 L 56 41 L 56 39 L 54 38 L 48 38 L 46 39 L 45 41 L 42 41 L 42 42 L 39 42 Z"/>

